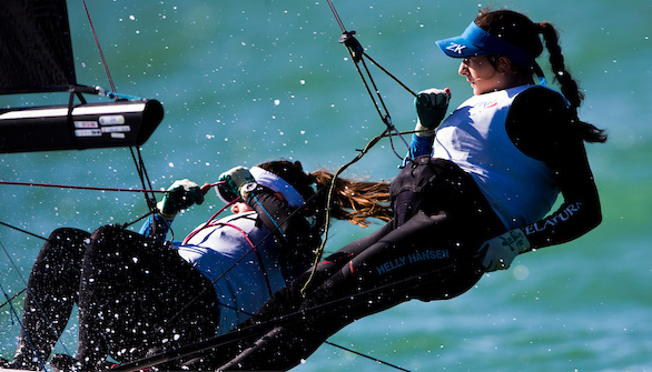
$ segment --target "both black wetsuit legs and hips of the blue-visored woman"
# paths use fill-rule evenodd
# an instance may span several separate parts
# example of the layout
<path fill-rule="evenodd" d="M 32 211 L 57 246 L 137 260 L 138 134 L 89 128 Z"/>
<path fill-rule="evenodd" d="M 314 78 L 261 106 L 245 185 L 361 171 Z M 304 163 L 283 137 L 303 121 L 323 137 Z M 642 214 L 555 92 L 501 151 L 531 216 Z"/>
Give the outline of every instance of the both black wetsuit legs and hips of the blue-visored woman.
<path fill-rule="evenodd" d="M 315 289 L 298 306 L 294 292 L 300 283 L 279 296 L 289 299 L 278 301 L 280 306 L 275 295 L 258 314 L 264 321 L 297 308 L 302 316 L 273 322 L 265 336 L 219 370 L 287 370 L 356 319 L 411 299 L 451 299 L 473 286 L 483 273 L 475 250 L 505 228 L 457 167 L 431 159 L 413 165 L 402 171 L 403 187 L 395 188 L 401 191 L 394 194 L 395 220 L 318 268 L 314 279 L 319 284 L 310 285 Z"/>

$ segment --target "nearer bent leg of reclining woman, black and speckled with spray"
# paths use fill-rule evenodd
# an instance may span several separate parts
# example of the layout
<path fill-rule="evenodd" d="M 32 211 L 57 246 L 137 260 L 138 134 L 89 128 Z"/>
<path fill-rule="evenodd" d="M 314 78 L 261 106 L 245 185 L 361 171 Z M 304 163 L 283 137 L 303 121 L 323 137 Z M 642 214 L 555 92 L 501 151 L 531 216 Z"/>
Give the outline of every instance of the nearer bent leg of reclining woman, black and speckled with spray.
<path fill-rule="evenodd" d="M 215 335 L 219 301 L 175 250 L 112 227 L 93 232 L 83 257 L 78 360 L 98 370 Z M 180 363 L 180 362 L 179 362 Z"/>

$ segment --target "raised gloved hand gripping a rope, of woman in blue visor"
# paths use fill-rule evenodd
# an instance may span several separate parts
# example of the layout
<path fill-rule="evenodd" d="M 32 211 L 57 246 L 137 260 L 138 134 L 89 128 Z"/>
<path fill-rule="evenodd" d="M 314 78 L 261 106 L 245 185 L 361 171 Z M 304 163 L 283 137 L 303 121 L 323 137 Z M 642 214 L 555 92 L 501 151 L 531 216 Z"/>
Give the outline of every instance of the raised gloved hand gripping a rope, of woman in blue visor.
<path fill-rule="evenodd" d="M 416 135 L 435 135 L 435 129 L 439 125 L 446 115 L 450 100 L 451 90 L 448 88 L 444 90 L 427 89 L 421 91 L 416 95 L 414 100 L 416 114 L 418 117 L 418 121 L 415 128 Z"/>

